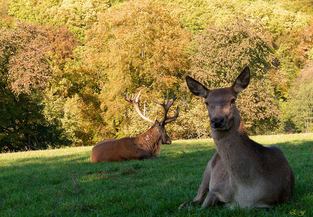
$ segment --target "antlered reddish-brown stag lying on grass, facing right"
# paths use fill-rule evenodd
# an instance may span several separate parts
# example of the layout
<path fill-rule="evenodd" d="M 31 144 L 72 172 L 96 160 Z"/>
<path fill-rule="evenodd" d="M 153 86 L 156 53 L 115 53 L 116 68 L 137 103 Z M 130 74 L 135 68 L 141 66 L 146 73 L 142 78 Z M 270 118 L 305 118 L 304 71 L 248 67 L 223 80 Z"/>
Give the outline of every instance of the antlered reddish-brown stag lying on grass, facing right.
<path fill-rule="evenodd" d="M 174 94 L 173 100 L 169 101 L 169 93 L 167 92 L 167 102 L 165 103 L 163 97 L 163 103 L 158 102 L 154 99 L 154 102 L 160 104 L 164 108 L 164 117 L 161 121 L 158 121 L 158 113 L 155 121 L 146 118 L 141 114 L 138 107 L 138 99 L 140 92 L 132 99 L 126 95 L 125 100 L 130 102 L 136 109 L 137 113 L 152 125 L 146 132 L 135 137 L 125 137 L 121 139 L 105 139 L 96 144 L 91 150 L 90 159 L 91 162 L 112 162 L 112 161 L 125 161 L 132 159 L 148 159 L 157 157 L 161 144 L 171 144 L 172 141 L 166 133 L 164 128 L 165 124 L 168 124 L 177 119 L 179 114 L 178 105 L 176 113 L 172 117 L 168 117 L 167 113 L 170 107 L 177 99 L 177 95 Z"/>

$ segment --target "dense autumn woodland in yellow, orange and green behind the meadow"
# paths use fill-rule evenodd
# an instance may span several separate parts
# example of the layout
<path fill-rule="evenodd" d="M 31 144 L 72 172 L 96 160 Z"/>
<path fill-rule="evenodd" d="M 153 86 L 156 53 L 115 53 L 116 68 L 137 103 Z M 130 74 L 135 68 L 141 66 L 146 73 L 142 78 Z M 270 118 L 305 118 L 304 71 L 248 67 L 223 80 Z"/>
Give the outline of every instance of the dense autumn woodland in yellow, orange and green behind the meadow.
<path fill-rule="evenodd" d="M 248 132 L 312 132 L 313 7 L 306 5 L 313 1 L 6 0 L 0 151 L 138 135 L 149 123 L 124 94 L 140 90 L 150 119 L 162 111 L 152 98 L 178 94 L 172 139 L 208 137 L 206 108 L 185 75 L 226 87 L 246 65 L 252 79 L 237 107 Z"/>

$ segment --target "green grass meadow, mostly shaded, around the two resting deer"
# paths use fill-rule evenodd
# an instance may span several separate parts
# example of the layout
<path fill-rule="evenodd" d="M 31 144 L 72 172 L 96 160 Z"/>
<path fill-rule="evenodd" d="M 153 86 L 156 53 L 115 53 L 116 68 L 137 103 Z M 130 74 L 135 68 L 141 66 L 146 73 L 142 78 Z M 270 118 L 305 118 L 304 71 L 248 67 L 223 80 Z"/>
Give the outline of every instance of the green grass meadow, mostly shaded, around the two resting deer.
<path fill-rule="evenodd" d="M 251 138 L 284 151 L 295 171 L 289 203 L 177 211 L 196 196 L 216 151 L 212 139 L 177 140 L 142 161 L 91 163 L 92 147 L 0 154 L 0 216 L 313 216 L 313 134 Z"/>

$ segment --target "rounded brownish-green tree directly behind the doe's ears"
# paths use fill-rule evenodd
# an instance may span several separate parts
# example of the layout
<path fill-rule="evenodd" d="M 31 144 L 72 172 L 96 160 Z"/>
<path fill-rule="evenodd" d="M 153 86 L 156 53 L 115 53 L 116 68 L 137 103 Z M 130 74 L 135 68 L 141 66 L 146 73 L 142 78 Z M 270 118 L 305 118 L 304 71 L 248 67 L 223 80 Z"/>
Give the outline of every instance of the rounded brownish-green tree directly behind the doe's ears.
<path fill-rule="evenodd" d="M 237 100 L 237 107 L 251 134 L 269 133 L 280 128 L 277 100 L 268 69 L 273 58 L 269 34 L 245 19 L 214 26 L 195 37 L 198 53 L 189 73 L 208 88 L 227 87 L 244 66 L 251 70 L 247 90 Z"/>

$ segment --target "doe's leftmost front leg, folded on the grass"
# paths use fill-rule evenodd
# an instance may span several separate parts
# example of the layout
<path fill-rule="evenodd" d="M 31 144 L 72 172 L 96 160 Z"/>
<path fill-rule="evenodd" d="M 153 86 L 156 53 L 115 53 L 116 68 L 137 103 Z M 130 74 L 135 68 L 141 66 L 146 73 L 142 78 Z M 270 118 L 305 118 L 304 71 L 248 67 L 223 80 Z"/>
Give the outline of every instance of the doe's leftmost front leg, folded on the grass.
<path fill-rule="evenodd" d="M 178 209 L 188 207 L 191 204 L 201 204 L 203 201 L 204 196 L 206 193 L 209 191 L 209 186 L 210 186 L 210 179 L 211 179 L 211 161 L 206 165 L 206 169 L 204 170 L 204 174 L 202 177 L 202 182 L 201 185 L 198 189 L 198 194 L 197 196 L 193 199 L 193 201 L 186 201 L 183 204 L 180 204 L 180 207 Z"/>

